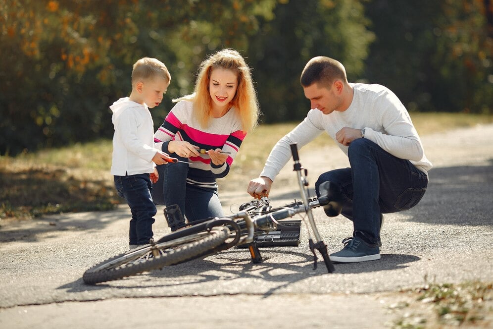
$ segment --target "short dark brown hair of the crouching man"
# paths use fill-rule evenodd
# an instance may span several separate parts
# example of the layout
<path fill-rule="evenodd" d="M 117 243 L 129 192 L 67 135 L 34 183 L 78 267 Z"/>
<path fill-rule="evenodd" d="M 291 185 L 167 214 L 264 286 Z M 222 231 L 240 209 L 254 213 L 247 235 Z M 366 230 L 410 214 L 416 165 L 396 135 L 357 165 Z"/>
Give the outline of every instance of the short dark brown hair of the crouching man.
<path fill-rule="evenodd" d="M 330 87 L 338 79 L 347 82 L 344 65 L 333 58 L 317 56 L 306 63 L 299 80 L 303 87 L 314 83 L 320 87 Z"/>

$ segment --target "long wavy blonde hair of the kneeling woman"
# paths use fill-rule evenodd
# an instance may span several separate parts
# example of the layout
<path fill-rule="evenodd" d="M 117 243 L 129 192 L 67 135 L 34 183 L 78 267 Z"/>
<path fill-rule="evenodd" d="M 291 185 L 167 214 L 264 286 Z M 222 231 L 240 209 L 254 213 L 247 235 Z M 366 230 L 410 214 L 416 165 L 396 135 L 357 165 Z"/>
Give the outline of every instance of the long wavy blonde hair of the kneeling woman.
<path fill-rule="evenodd" d="M 200 124 L 206 127 L 212 115 L 212 99 L 209 93 L 209 82 L 210 74 L 215 68 L 223 68 L 238 73 L 238 88 L 231 103 L 240 113 L 243 130 L 252 130 L 257 126 L 259 116 L 257 95 L 253 88 L 250 68 L 242 55 L 235 50 L 223 49 L 202 61 L 199 67 L 194 93 L 173 100 L 173 102 L 182 100 L 193 101 L 197 118 Z"/>

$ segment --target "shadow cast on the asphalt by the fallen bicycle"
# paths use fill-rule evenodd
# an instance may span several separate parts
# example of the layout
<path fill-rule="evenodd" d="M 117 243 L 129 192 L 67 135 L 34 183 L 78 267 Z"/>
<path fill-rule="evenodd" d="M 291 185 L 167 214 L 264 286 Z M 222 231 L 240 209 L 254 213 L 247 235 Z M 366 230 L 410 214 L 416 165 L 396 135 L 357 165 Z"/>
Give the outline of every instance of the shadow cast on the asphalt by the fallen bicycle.
<path fill-rule="evenodd" d="M 280 259 L 279 255 L 284 257 Z M 409 263 L 420 260 L 413 255 L 382 254 L 378 262 L 363 262 L 353 264 L 335 263 L 335 272 L 328 274 L 323 259 L 317 254 L 317 268 L 314 269 L 313 256 L 296 251 L 283 252 L 279 248 L 261 249 L 263 261 L 258 264 L 251 262 L 246 249 L 234 249 L 218 254 L 198 258 L 186 263 L 166 266 L 161 271 L 155 270 L 138 274 L 122 280 L 110 281 L 98 285 L 86 285 L 82 279 L 64 284 L 58 289 L 69 289 L 67 292 L 81 292 L 85 290 L 101 290 L 107 288 L 151 288 L 189 286 L 212 281 L 234 281 L 239 279 L 254 280 L 251 284 L 258 285 L 258 280 L 277 282 L 263 293 L 265 297 L 274 294 L 280 289 L 289 287 L 304 279 L 334 275 L 336 279 L 341 274 L 360 274 L 379 271 L 392 271 L 408 267 Z M 286 260 L 288 259 L 288 260 Z M 338 275 L 339 274 L 339 275 Z M 123 284 L 121 284 L 123 283 Z"/>

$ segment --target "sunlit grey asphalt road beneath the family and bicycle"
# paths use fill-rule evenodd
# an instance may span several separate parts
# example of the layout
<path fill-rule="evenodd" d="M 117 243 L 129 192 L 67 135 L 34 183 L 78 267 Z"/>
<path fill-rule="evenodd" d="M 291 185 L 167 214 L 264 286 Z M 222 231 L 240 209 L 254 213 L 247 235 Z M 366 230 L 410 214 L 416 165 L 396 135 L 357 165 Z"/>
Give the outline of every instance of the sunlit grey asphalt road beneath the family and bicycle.
<path fill-rule="evenodd" d="M 1 221 L 0 329 L 390 326 L 402 316 L 390 311 L 406 298 L 402 289 L 492 281 L 492 142 L 493 125 L 424 136 L 434 164 L 424 198 L 414 209 L 386 215 L 381 260 L 336 264 L 334 274 L 322 262 L 313 269 L 303 225 L 299 246 L 263 248 L 261 264 L 252 264 L 246 250 L 231 249 L 91 286 L 82 281 L 84 271 L 127 248 L 127 206 Z M 312 186 L 322 171 L 347 165 L 330 147 L 318 154 L 301 150 L 300 158 Z M 276 180 L 273 203 L 298 196 L 291 169 L 287 165 Z M 246 183 L 220 190 L 227 212 L 250 200 Z M 351 222 L 327 219 L 321 209 L 314 216 L 329 251 L 341 249 Z M 159 214 L 155 236 L 167 232 Z"/>

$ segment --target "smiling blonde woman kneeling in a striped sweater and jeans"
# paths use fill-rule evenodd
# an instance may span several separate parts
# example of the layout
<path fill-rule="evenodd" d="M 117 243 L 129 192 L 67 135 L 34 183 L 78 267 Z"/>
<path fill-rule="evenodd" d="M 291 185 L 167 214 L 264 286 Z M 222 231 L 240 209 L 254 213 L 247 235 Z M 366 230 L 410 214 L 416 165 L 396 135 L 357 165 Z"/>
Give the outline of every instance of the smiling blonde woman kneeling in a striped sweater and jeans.
<path fill-rule="evenodd" d="M 194 93 L 173 102 L 154 147 L 185 163 L 157 166 L 154 203 L 178 205 L 189 222 L 222 217 L 216 178 L 228 174 L 259 115 L 245 59 L 231 49 L 211 55 L 200 64 Z M 185 226 L 166 220 L 172 231 Z"/>

